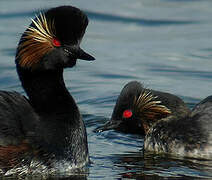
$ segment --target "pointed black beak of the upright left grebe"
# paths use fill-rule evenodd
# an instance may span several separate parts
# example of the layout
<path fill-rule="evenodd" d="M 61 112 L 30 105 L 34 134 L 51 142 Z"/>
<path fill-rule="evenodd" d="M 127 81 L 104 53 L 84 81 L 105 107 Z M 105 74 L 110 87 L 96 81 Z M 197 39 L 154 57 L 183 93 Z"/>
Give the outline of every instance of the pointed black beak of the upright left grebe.
<path fill-rule="evenodd" d="M 65 46 L 64 51 L 73 59 L 83 59 L 87 61 L 95 60 L 93 56 L 83 51 L 79 46 Z"/>

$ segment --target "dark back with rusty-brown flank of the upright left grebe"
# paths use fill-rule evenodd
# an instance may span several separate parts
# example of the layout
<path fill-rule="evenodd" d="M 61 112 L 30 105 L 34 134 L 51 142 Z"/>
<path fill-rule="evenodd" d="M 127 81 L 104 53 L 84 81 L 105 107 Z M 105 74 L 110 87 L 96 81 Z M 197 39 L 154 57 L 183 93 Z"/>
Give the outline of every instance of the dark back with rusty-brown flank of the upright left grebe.
<path fill-rule="evenodd" d="M 24 96 L 17 92 L 0 91 L 1 170 L 17 166 L 26 159 L 26 153 L 31 153 L 29 141 L 34 135 L 34 122 L 37 120 Z"/>

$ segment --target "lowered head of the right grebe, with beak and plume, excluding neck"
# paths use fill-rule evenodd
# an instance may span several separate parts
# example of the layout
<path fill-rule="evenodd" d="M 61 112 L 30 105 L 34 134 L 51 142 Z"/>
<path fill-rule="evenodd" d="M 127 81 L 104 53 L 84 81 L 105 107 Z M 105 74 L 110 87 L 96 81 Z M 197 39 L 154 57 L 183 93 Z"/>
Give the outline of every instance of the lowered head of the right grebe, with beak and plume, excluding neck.
<path fill-rule="evenodd" d="M 150 90 L 132 81 L 122 89 L 111 120 L 96 131 L 115 129 L 125 133 L 145 134 L 154 121 L 170 113 Z"/>

